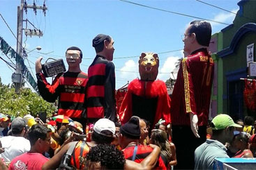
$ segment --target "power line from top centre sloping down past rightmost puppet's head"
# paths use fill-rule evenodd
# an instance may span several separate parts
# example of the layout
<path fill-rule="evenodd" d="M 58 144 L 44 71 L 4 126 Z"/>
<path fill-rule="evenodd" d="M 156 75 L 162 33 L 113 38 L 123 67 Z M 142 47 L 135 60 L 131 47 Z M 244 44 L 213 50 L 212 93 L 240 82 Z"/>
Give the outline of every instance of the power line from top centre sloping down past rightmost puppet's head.
<path fill-rule="evenodd" d="M 132 1 L 126 1 L 126 0 L 119 0 L 119 1 L 123 1 L 123 2 L 126 2 L 126 3 L 131 3 L 133 5 L 142 6 L 142 7 L 145 7 L 145 8 L 151 8 L 153 10 L 160 10 L 160 11 L 163 11 L 163 12 L 168 12 L 168 13 L 172 13 L 172 14 L 176 14 L 176 15 L 182 15 L 182 16 L 185 16 L 185 17 L 192 17 L 192 18 L 196 18 L 196 19 L 202 19 L 202 20 L 206 20 L 206 21 L 209 21 L 209 22 L 216 22 L 218 24 L 224 24 L 224 25 L 227 25 L 227 26 L 229 25 L 227 23 L 218 22 L 218 21 L 215 21 L 215 20 L 212 20 L 212 19 L 205 19 L 205 18 L 202 18 L 202 17 L 195 17 L 193 15 L 186 15 L 186 14 L 183 14 L 183 13 L 180 13 L 180 12 L 173 12 L 173 11 L 170 11 L 170 10 L 163 10 L 163 9 L 160 9 L 160 8 L 155 8 L 155 7 L 151 7 L 151 6 L 145 6 L 143 4 L 135 3 L 135 2 L 132 2 Z"/>

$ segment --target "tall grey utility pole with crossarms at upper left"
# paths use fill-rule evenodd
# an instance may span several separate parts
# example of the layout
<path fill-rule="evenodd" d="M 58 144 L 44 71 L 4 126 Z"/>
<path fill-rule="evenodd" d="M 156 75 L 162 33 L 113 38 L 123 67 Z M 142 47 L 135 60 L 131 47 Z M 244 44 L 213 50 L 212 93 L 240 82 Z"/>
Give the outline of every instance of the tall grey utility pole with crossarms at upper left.
<path fill-rule="evenodd" d="M 22 31 L 25 30 L 25 34 L 27 35 L 36 35 L 36 36 L 43 36 L 43 32 L 38 30 L 31 22 L 29 22 L 28 19 L 23 20 L 23 10 L 27 13 L 27 8 L 33 8 L 33 11 L 36 14 L 36 10 L 43 10 L 45 14 L 45 10 L 47 10 L 47 7 L 45 6 L 45 2 L 43 3 L 43 6 L 36 6 L 35 1 L 33 2 L 32 5 L 27 5 L 27 1 L 21 0 L 20 1 L 20 6 L 17 6 L 17 53 L 23 58 L 23 51 L 24 48 L 22 47 Z M 27 31 L 26 29 L 23 29 L 23 22 L 29 22 L 35 29 L 33 31 Z M 27 23 L 26 23 L 27 26 Z M 20 64 L 20 61 L 16 60 L 16 72 L 13 75 L 15 77 L 15 92 L 20 92 L 20 88 L 22 87 L 22 65 Z"/>

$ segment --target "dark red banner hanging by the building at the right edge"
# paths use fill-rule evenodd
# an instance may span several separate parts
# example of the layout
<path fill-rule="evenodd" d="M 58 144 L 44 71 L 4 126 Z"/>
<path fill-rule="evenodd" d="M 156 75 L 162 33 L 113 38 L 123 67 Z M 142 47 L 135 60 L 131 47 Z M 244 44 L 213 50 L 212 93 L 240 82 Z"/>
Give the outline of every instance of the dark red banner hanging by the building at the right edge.
<path fill-rule="evenodd" d="M 245 87 L 243 90 L 243 98 L 246 103 L 246 107 L 249 110 L 256 110 L 256 88 L 255 88 L 255 80 L 248 81 L 244 79 Z"/>

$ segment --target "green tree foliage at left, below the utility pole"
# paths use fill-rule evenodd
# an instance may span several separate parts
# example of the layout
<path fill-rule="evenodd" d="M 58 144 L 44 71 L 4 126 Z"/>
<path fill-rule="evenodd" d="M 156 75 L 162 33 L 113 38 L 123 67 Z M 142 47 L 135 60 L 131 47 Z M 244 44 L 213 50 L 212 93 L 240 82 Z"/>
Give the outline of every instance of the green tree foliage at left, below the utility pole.
<path fill-rule="evenodd" d="M 36 116 L 38 112 L 46 112 L 48 117 L 56 110 L 52 103 L 43 100 L 41 96 L 29 88 L 23 88 L 20 94 L 15 93 L 15 88 L 3 85 L 0 80 L 0 112 L 12 116 L 23 117 L 26 114 Z"/>

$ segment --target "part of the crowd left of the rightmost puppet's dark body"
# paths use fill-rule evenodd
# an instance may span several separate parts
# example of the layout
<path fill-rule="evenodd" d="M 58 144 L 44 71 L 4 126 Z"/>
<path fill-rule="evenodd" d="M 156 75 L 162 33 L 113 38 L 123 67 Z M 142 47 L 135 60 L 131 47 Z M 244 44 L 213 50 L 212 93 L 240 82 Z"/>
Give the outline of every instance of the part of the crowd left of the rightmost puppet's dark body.
<path fill-rule="evenodd" d="M 98 119 L 87 135 L 82 135 L 82 124 L 71 119 L 70 123 L 48 119 L 44 124 L 35 118 L 29 127 L 34 119 L 29 118 L 10 121 L 1 114 L 1 124 L 8 123 L 3 128 L 10 128 L 0 138 L 1 169 L 167 169 L 176 164 L 175 146 L 162 130 L 163 121 L 162 128 L 156 125 L 149 137 L 146 122 L 139 117 L 122 126 Z"/>

